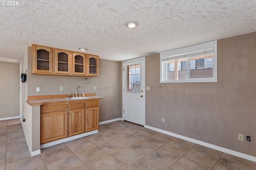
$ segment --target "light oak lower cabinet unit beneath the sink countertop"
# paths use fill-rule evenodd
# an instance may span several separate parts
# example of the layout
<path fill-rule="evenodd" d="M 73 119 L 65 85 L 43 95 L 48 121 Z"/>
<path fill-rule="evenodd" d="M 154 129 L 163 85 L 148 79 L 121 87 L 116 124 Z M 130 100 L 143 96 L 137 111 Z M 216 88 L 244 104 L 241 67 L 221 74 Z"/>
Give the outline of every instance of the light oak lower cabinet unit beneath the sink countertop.
<path fill-rule="evenodd" d="M 40 144 L 99 128 L 99 101 L 41 106 Z"/>

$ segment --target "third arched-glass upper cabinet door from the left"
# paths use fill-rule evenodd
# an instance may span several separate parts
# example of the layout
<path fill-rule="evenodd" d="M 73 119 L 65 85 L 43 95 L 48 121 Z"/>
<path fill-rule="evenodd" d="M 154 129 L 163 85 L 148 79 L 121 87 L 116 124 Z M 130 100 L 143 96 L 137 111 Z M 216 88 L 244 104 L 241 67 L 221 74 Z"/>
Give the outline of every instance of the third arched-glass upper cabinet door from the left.
<path fill-rule="evenodd" d="M 73 52 L 72 54 L 72 74 L 85 75 L 86 55 L 84 53 Z"/>

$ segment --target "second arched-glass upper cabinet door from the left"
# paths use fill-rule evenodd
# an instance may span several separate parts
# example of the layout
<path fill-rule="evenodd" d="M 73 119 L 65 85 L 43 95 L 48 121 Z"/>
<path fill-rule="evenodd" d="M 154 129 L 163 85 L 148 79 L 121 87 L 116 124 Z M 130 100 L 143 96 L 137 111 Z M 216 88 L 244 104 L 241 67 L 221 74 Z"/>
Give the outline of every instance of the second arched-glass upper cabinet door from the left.
<path fill-rule="evenodd" d="M 70 51 L 62 49 L 53 49 L 55 53 L 55 73 L 70 74 L 71 73 L 71 55 Z"/>

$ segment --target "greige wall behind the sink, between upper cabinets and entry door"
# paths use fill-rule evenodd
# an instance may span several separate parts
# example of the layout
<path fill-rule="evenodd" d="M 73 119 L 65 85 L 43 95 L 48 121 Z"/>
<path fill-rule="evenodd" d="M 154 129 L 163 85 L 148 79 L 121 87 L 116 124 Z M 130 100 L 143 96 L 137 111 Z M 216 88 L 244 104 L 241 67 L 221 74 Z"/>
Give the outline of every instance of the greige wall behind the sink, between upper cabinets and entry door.
<path fill-rule="evenodd" d="M 30 48 L 28 50 L 28 96 L 96 93 L 96 96 L 103 96 L 100 100 L 100 121 L 116 119 L 120 117 L 120 62 L 110 60 L 99 60 L 99 76 L 87 77 L 90 84 L 84 84 L 84 78 L 80 76 L 54 76 L 30 74 Z M 63 92 L 60 92 L 60 86 Z M 96 86 L 96 90 L 93 90 Z M 36 92 L 40 87 L 40 92 Z M 122 102 L 121 102 L 122 103 Z"/>

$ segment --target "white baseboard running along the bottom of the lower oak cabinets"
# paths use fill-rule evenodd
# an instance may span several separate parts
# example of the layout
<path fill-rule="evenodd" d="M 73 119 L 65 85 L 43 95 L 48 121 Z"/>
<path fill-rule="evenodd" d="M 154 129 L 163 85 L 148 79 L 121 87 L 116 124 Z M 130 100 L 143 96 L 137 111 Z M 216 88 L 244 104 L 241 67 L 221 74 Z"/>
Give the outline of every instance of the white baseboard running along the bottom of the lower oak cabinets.
<path fill-rule="evenodd" d="M 67 138 L 64 138 L 64 139 L 60 139 L 58 141 L 53 141 L 53 142 L 45 143 L 45 144 L 40 145 L 40 149 L 51 147 L 53 145 L 58 145 L 60 143 L 72 141 L 74 139 L 78 139 L 80 137 L 85 137 L 85 136 L 92 135 L 92 134 L 95 134 L 95 133 L 98 133 L 98 130 L 82 133 L 82 134 L 75 135 L 75 136 L 72 136 L 72 137 L 67 137 Z"/>

